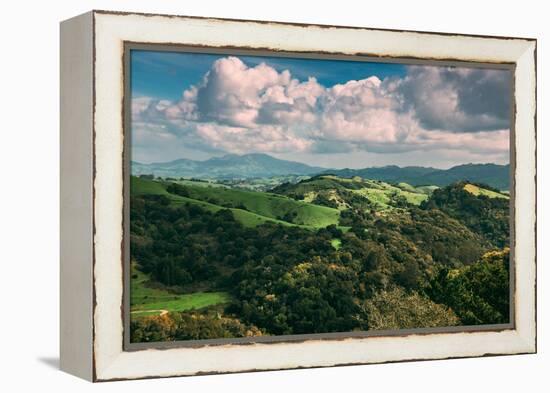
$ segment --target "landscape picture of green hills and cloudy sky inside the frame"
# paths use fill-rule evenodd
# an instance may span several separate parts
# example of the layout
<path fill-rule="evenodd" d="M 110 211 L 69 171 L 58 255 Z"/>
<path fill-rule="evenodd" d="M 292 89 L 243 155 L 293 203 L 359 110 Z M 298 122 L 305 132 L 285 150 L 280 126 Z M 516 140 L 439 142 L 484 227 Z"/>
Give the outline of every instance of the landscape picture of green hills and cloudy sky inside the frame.
<path fill-rule="evenodd" d="M 509 69 L 128 64 L 131 343 L 510 322 Z"/>

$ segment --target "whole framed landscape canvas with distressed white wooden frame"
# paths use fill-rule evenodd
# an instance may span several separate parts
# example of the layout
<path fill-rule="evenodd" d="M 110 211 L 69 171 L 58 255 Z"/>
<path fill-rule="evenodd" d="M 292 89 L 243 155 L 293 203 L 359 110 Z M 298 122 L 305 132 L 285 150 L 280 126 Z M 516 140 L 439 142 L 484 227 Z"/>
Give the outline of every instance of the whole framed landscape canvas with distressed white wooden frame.
<path fill-rule="evenodd" d="M 61 368 L 536 351 L 536 41 L 61 24 Z"/>

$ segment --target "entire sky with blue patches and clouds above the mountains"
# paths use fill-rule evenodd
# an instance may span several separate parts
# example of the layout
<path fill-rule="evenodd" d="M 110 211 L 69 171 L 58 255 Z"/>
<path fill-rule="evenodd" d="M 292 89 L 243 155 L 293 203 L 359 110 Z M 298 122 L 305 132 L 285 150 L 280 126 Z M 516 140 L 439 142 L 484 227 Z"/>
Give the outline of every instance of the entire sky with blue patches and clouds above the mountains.
<path fill-rule="evenodd" d="M 508 163 L 510 72 L 133 50 L 132 160 Z"/>

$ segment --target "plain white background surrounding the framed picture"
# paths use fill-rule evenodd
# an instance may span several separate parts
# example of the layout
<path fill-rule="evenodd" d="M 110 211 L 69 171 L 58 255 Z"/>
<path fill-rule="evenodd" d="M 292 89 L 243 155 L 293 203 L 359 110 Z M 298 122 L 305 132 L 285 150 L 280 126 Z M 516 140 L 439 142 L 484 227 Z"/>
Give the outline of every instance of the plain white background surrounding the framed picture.
<path fill-rule="evenodd" d="M 542 1 L 6 1 L 0 12 L 0 391 L 539 392 L 550 378 Z M 92 385 L 58 363 L 58 23 L 90 9 L 538 38 L 539 354 Z M 521 130 L 519 130 L 521 135 Z"/>

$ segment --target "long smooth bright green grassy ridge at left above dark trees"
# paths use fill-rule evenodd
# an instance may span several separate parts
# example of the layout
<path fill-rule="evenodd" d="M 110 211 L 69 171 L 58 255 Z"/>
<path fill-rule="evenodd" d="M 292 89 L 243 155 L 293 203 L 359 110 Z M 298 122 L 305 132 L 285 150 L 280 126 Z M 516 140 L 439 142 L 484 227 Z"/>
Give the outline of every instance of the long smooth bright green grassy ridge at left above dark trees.
<path fill-rule="evenodd" d="M 248 190 L 205 186 L 203 182 L 186 181 L 179 194 L 167 191 L 170 182 L 138 177 L 131 178 L 133 195 L 165 195 L 173 204 L 191 203 L 216 212 L 230 209 L 243 225 L 253 227 L 265 222 L 322 228 L 337 224 L 340 212 L 326 206 L 300 202 L 291 198 Z"/>

